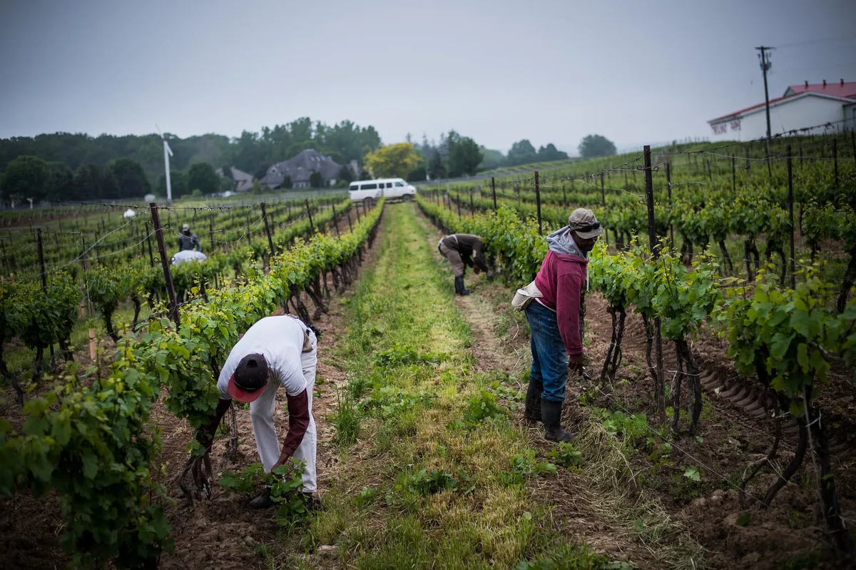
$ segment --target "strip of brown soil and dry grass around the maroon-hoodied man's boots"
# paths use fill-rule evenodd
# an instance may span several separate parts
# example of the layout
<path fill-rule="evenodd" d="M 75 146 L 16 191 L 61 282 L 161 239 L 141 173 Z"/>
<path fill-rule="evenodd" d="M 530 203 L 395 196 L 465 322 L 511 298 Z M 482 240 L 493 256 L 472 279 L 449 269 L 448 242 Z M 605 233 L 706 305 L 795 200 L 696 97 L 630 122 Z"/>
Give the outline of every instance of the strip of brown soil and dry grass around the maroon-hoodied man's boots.
<path fill-rule="evenodd" d="M 427 218 L 418 216 L 431 245 L 443 234 Z M 434 249 L 432 257 L 449 282 L 449 262 Z M 528 382 L 532 355 L 526 317 L 510 306 L 514 288 L 498 280 L 488 282 L 483 276 L 467 276 L 467 288 L 473 294 L 455 296 L 455 306 L 473 331 L 473 353 L 479 368 L 501 369 L 508 381 L 496 390 L 505 405 L 515 407 L 514 421 L 522 423 L 523 398 Z M 588 336 L 588 335 L 587 335 Z M 586 343 L 591 342 L 586 338 Z M 514 390 L 518 390 L 516 398 Z M 632 560 L 639 567 L 705 567 L 701 546 L 685 525 L 677 522 L 654 496 L 639 490 L 622 476 L 630 455 L 627 442 L 609 435 L 602 422 L 594 418 L 589 407 L 577 400 L 584 392 L 582 385 L 568 379 L 568 405 L 564 423 L 579 431 L 574 447 L 581 453 L 579 468 L 562 469 L 556 478 L 537 478 L 528 483 L 531 496 L 548 505 L 558 531 L 585 541 L 600 553 Z M 556 448 L 544 440 L 540 425 L 524 430 L 527 446 L 539 456 L 547 457 Z M 620 554 L 618 554 L 620 553 Z"/>

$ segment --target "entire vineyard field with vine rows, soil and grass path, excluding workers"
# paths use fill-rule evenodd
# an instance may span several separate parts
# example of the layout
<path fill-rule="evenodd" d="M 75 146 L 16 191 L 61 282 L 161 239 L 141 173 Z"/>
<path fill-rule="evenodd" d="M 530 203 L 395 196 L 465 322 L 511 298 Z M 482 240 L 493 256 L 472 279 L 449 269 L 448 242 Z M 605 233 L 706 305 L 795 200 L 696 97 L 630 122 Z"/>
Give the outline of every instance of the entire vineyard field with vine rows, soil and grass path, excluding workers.
<path fill-rule="evenodd" d="M 579 436 L 555 445 L 521 422 L 529 331 L 508 301 L 576 207 L 605 233 L 587 374 L 568 381 Z M 0 560 L 847 567 L 854 208 L 840 134 L 554 163 L 415 205 L 3 217 Z M 204 262 L 169 264 L 183 223 Z M 497 276 L 468 276 L 467 298 L 437 253 L 448 233 L 481 236 Z M 299 474 L 260 470 L 246 406 L 211 458 L 196 443 L 231 347 L 282 313 L 322 332 L 312 514 Z M 272 520 L 245 506 L 263 484 L 284 497 Z"/>

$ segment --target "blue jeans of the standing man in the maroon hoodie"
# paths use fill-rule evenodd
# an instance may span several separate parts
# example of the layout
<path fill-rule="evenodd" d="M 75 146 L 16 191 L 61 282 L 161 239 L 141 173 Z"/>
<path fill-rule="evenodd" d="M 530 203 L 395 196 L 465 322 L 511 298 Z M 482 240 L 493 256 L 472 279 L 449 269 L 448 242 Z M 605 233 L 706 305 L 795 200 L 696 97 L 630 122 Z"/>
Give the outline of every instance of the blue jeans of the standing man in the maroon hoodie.
<path fill-rule="evenodd" d="M 532 330 L 532 380 L 544 383 L 541 397 L 547 401 L 564 401 L 565 385 L 568 383 L 568 353 L 556 313 L 533 300 L 526 307 L 526 320 Z"/>

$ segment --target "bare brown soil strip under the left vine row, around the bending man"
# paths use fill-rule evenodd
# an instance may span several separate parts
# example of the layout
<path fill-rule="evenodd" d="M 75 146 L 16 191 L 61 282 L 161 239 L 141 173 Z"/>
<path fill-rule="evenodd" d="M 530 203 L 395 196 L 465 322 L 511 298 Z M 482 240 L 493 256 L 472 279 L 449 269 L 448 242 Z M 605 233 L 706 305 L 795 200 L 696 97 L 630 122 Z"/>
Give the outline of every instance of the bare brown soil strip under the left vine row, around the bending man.
<path fill-rule="evenodd" d="M 356 223 L 355 219 L 354 223 Z M 383 224 L 382 217 L 377 235 L 383 232 Z M 339 225 L 340 230 L 347 231 L 347 217 L 340 219 Z M 344 225 L 343 228 L 342 225 Z M 366 248 L 362 267 L 374 263 L 380 249 L 379 242 L 380 240 L 375 239 L 372 247 Z M 330 274 L 327 280 L 327 286 L 330 292 L 333 292 L 335 289 Z M 327 418 L 336 408 L 336 390 L 347 382 L 344 373 L 336 366 L 330 354 L 336 353 L 336 346 L 346 333 L 346 324 L 342 316 L 342 299 L 344 294 L 354 288 L 355 283 L 348 286 L 342 295 L 331 297 L 329 310 L 326 313 L 314 306 L 306 293 L 300 294 L 300 299 L 313 313 L 313 324 L 321 332 L 318 340 L 315 395 L 312 401 L 312 416 L 315 418 L 318 437 L 316 468 L 319 496 L 324 495 L 329 482 L 334 480 L 336 470 L 334 434 Z M 282 308 L 278 309 L 276 314 L 282 314 Z M 180 421 L 163 410 L 160 402 L 158 402 L 158 416 L 164 431 L 163 460 L 172 466 L 168 469 L 169 494 L 181 496 L 175 475 L 187 459 L 185 446 L 192 432 L 187 422 Z M 152 418 L 155 418 L 154 412 Z M 229 414 L 223 418 L 223 421 L 227 419 Z M 284 390 L 279 390 L 276 394 L 274 421 L 277 432 L 282 435 L 288 425 Z M 237 410 L 237 425 L 239 437 L 237 456 L 229 457 L 225 453 L 228 437 L 215 442 L 211 450 L 211 463 L 215 473 L 239 471 L 251 463 L 259 462 L 249 410 Z M 171 432 L 170 429 L 172 429 Z M 261 568 L 265 567 L 266 561 L 259 556 L 259 553 L 265 551 L 269 553 L 270 559 L 283 561 L 286 556 L 287 542 L 278 539 L 276 522 L 271 520 L 271 512 L 254 511 L 248 508 L 245 496 L 223 496 L 217 484 L 214 485 L 214 489 L 211 501 L 198 502 L 192 510 L 188 509 L 183 501 L 169 510 L 168 516 L 175 539 L 175 553 L 164 555 L 161 567 Z"/>

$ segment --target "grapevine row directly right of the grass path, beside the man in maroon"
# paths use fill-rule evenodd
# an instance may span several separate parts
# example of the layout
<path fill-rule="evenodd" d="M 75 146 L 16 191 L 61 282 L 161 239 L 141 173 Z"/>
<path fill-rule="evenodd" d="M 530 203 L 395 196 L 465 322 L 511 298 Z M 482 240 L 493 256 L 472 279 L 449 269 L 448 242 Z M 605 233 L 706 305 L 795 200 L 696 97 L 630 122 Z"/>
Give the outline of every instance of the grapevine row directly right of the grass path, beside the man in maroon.
<path fill-rule="evenodd" d="M 487 254 L 496 259 L 508 281 L 518 286 L 532 279 L 544 258 L 546 242 L 538 235 L 537 223 L 532 218 L 520 220 L 506 207 L 461 217 L 422 197 L 418 203 L 445 231 L 481 235 Z M 654 394 L 657 399 L 663 397 L 663 371 L 651 363 L 650 357 L 651 324 L 654 318 L 660 318 L 663 334 L 675 342 L 677 353 L 678 373 L 671 390 L 672 427 L 675 433 L 681 433 L 681 385 L 686 380 L 690 392 L 688 433 L 694 435 L 702 392 L 689 341 L 698 337 L 705 324 L 712 326 L 728 338 L 728 355 L 735 359 L 738 371 L 757 376 L 758 381 L 775 393 L 776 411 L 788 411 L 800 425 L 798 452 L 770 488 L 764 504 L 769 505 L 777 490 L 799 468 L 811 432 L 823 465 L 824 514 L 835 540 L 846 541 L 829 471 L 829 447 L 823 423 L 814 421 L 817 410 L 811 401 L 817 383 L 827 382 L 830 365 L 856 365 L 856 300 L 836 313 L 830 308 L 835 288 L 817 276 L 807 276 L 794 289 L 780 287 L 775 277 L 763 270 L 756 282 L 722 280 L 710 259 L 701 256 L 692 268 L 687 268 L 680 256 L 668 248 L 658 258 L 652 258 L 640 246 L 610 255 L 601 243 L 591 252 L 589 269 L 591 286 L 603 294 L 613 316 L 613 335 L 603 363 L 602 382 L 609 385 L 615 379 L 624 318 L 627 309 L 633 306 L 648 331 Z M 665 420 L 664 404 L 657 402 L 662 420 Z"/>

